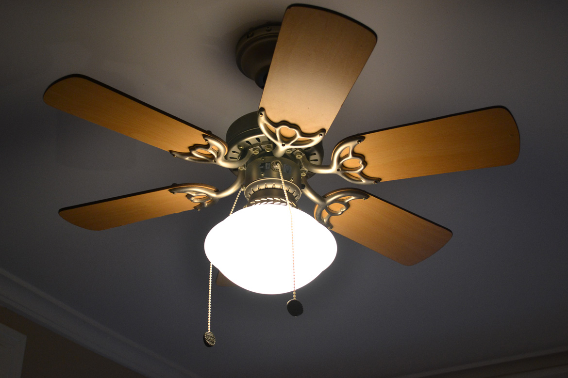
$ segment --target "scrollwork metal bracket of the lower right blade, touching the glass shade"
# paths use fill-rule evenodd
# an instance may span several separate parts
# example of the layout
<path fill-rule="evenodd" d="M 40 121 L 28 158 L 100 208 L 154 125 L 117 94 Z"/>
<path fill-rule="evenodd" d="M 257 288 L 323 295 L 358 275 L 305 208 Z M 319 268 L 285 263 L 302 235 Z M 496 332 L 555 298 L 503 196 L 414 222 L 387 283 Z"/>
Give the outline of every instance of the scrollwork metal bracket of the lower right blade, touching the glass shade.
<path fill-rule="evenodd" d="M 349 209 L 349 201 L 353 201 L 353 199 L 369 198 L 369 194 L 359 189 L 339 189 L 327 196 L 321 197 L 314 189 L 311 188 L 310 185 L 308 185 L 306 179 L 302 179 L 302 184 L 304 185 L 302 192 L 316 204 L 314 208 L 314 218 L 329 230 L 333 227 L 331 223 L 329 223 L 329 218 L 341 215 Z M 330 207 L 336 203 L 341 205 L 341 207 Z M 323 214 L 324 210 L 325 215 Z"/>

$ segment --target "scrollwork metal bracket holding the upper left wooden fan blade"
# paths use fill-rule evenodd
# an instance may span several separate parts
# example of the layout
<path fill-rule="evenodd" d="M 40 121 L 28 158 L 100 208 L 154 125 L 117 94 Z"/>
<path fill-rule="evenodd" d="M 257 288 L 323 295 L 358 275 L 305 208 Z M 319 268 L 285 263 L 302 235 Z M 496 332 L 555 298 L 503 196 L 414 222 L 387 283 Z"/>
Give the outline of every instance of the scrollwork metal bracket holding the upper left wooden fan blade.
<path fill-rule="evenodd" d="M 188 160 L 195 163 L 217 164 L 224 168 L 236 169 L 247 162 L 251 152 L 240 156 L 240 159 L 225 158 L 227 156 L 227 145 L 212 135 L 203 135 L 206 145 L 193 145 L 189 147 L 189 152 L 170 151 L 176 158 Z"/>

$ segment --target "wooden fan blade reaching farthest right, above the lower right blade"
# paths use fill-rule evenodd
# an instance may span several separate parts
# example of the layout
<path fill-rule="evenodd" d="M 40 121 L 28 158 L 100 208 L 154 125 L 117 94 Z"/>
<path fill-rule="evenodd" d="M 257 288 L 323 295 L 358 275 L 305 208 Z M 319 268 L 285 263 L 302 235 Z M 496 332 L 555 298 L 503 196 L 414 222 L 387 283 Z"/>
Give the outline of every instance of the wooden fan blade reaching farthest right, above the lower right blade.
<path fill-rule="evenodd" d="M 362 134 L 363 173 L 382 181 L 497 167 L 519 156 L 519 130 L 502 107 Z"/>

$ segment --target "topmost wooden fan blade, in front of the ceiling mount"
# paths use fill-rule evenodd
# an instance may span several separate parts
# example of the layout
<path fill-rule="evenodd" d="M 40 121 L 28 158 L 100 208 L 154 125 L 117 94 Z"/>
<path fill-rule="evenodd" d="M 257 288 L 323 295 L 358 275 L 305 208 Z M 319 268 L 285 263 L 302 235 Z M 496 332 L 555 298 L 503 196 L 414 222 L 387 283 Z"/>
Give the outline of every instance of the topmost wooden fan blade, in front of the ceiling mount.
<path fill-rule="evenodd" d="M 328 130 L 377 43 L 361 23 L 291 5 L 284 14 L 260 107 L 305 134 Z"/>

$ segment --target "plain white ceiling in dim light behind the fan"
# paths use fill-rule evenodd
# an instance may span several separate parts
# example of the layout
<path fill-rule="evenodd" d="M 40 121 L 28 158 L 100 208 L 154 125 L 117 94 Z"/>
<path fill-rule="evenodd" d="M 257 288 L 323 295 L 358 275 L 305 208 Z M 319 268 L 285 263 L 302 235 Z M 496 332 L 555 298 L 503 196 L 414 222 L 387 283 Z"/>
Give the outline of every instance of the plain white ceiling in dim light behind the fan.
<path fill-rule="evenodd" d="M 207 349 L 202 246 L 232 199 L 102 232 L 57 210 L 172 182 L 224 188 L 234 176 L 42 95 L 84 74 L 224 135 L 261 96 L 236 67 L 236 41 L 289 2 L 3 2 L 0 301 L 149 377 L 416 377 L 568 349 L 568 3 L 311 3 L 378 36 L 328 155 L 363 131 L 492 105 L 515 117 L 512 165 L 364 188 L 448 227 L 444 248 L 407 267 L 336 236 L 335 262 L 298 291 L 298 318 L 289 294 L 214 287 L 218 343 Z M 310 182 L 322 194 L 352 186 Z M 235 243 L 269 248 L 269 231 L 259 220 Z"/>

